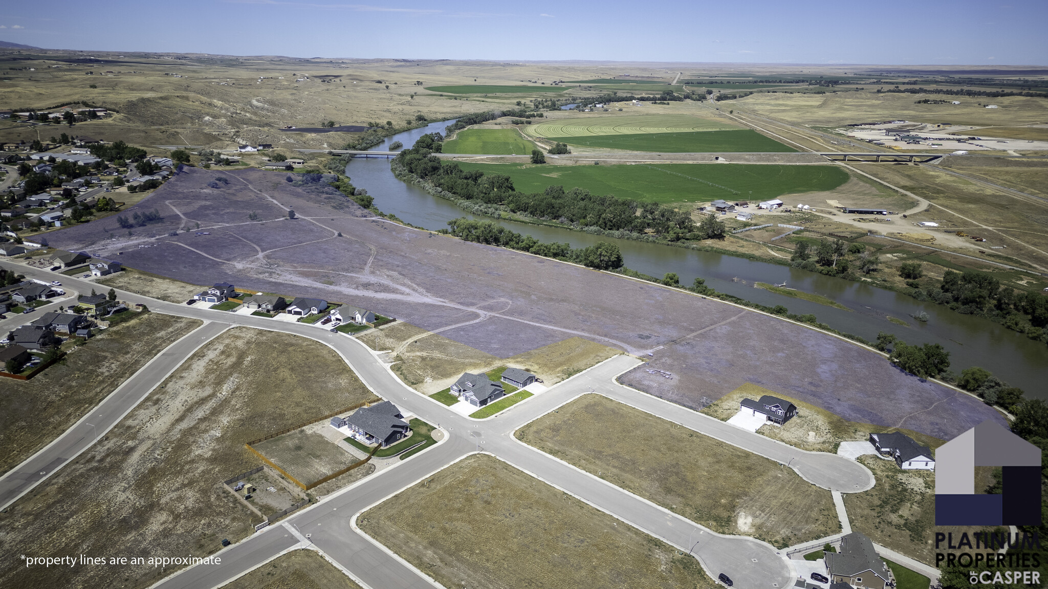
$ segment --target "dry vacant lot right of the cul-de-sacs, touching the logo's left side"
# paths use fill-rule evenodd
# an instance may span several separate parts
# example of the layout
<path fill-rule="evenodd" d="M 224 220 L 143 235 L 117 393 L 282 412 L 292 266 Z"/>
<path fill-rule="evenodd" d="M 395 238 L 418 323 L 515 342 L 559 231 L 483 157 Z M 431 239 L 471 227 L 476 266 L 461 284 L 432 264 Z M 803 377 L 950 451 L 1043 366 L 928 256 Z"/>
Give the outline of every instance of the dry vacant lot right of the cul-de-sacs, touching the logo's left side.
<path fill-rule="evenodd" d="M 852 529 L 925 564 L 935 564 L 935 473 L 903 471 L 894 460 L 860 456 L 877 484 L 845 495 Z"/>

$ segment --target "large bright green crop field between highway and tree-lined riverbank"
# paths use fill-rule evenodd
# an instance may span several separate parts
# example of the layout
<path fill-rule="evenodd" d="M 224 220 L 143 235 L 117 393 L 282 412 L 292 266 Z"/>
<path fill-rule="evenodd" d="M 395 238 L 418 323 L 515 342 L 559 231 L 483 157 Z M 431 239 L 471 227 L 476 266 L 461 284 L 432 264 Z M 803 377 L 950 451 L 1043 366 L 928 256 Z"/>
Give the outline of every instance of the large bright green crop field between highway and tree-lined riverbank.
<path fill-rule="evenodd" d="M 593 194 L 663 203 L 715 198 L 767 200 L 787 194 L 829 191 L 848 181 L 848 173 L 836 166 L 458 163 L 463 170 L 508 174 L 518 192 L 543 192 L 546 187 L 563 186 L 565 190 L 582 188 Z M 720 184 L 739 194 L 711 184 Z"/>

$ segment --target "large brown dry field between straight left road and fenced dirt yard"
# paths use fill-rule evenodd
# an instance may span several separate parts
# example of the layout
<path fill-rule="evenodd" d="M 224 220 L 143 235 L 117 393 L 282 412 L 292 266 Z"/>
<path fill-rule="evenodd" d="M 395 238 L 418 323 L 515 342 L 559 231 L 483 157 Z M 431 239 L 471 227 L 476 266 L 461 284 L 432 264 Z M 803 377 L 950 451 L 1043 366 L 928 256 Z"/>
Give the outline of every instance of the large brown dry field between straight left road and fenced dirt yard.
<path fill-rule="evenodd" d="M 327 346 L 234 328 L 0 515 L 0 551 L 213 553 L 223 538 L 243 539 L 260 521 L 221 485 L 260 464 L 244 443 L 370 395 Z M 48 570 L 20 567 L 15 559 L 0 563 L 5 587 L 140 588 L 161 574 L 151 566 Z"/>

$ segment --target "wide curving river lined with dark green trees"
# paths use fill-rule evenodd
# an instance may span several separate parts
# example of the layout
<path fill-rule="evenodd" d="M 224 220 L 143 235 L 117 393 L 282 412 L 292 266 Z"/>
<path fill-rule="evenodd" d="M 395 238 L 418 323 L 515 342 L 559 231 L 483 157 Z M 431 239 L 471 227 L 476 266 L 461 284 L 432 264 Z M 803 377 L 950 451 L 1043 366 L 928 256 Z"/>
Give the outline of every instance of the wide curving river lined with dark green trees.
<path fill-rule="evenodd" d="M 442 133 L 452 123 L 443 121 L 398 133 L 372 150 L 389 151 L 389 145 L 393 141 L 411 147 L 419 136 L 435 131 Z M 495 220 L 470 215 L 451 201 L 401 182 L 390 172 L 389 165 L 388 157 L 366 156 L 353 158 L 346 167 L 346 174 L 352 178 L 353 184 L 367 189 L 380 211 L 434 231 L 445 228 L 449 220 L 458 217 Z M 572 247 L 612 241 L 621 249 L 626 265 L 637 271 L 654 277 L 676 272 L 685 286 L 691 285 L 696 277 L 702 277 L 706 279 L 707 286 L 720 292 L 769 306 L 785 305 L 790 312 L 799 314 L 813 313 L 818 321 L 834 329 L 861 335 L 870 341 L 876 339 L 878 331 L 887 331 L 910 344 L 941 344 L 949 351 L 953 371 L 960 373 L 969 366 L 981 366 L 1011 386 L 1022 388 L 1028 395 L 1048 400 L 1048 385 L 1045 384 L 1045 376 L 1048 376 L 1048 347 L 983 318 L 961 314 L 942 305 L 921 303 L 904 294 L 868 284 L 768 262 L 658 243 L 612 239 L 560 227 L 504 220 L 496 222 L 515 232 L 530 234 L 540 241 L 568 242 Z M 755 288 L 752 284 L 758 281 L 772 284 L 785 282 L 791 288 L 828 297 L 850 310 Z M 921 311 L 929 314 L 927 323 L 910 317 Z M 888 317 L 903 320 L 910 326 L 891 323 Z M 798 362 L 810 359 L 799 357 Z"/>

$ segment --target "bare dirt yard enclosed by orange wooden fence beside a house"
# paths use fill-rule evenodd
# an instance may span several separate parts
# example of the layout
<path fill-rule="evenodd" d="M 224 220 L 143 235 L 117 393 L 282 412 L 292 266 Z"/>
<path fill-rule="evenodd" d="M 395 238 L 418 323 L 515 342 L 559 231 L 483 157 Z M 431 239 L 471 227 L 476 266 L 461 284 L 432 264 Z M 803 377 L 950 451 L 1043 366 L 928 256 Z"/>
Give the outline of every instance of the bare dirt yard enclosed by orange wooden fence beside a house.
<path fill-rule="evenodd" d="M 296 430 L 252 448 L 307 485 L 359 461 L 321 434 L 306 430 Z"/>

